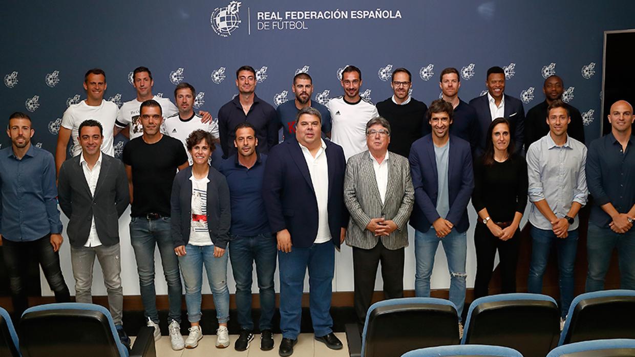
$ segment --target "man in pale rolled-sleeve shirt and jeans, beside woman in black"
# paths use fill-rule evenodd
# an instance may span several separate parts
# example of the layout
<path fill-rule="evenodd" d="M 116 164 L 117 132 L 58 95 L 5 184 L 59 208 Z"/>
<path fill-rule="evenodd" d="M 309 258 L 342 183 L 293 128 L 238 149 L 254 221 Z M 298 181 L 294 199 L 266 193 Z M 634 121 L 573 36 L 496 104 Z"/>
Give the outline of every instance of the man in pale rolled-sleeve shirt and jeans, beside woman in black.
<path fill-rule="evenodd" d="M 528 194 L 533 203 L 531 263 L 527 290 L 542 294 L 549 251 L 558 249 L 561 327 L 573 300 L 573 273 L 578 246 L 578 211 L 587 203 L 587 148 L 566 134 L 571 117 L 560 100 L 547 109 L 549 133 L 527 150 Z"/>

